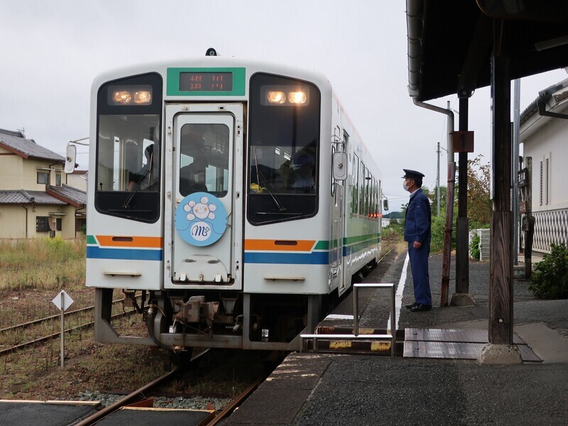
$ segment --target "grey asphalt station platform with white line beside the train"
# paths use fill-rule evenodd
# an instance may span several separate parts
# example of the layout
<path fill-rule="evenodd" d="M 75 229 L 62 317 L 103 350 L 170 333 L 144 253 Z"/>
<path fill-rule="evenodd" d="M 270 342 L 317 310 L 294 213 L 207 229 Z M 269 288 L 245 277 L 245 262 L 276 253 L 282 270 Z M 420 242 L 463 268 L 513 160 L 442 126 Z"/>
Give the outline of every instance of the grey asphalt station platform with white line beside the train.
<path fill-rule="evenodd" d="M 323 344 L 295 352 L 222 425 L 565 425 L 568 300 L 536 300 L 528 281 L 515 279 L 513 344 L 523 361 L 480 364 L 488 335 L 489 263 L 469 265 L 474 305 L 436 307 L 442 256 L 430 256 L 435 307 L 410 312 L 404 308 L 414 301 L 405 258 L 405 252 L 391 252 L 364 281 L 397 285 L 395 357 L 386 348 L 350 351 L 345 344 L 339 351 Z M 450 297 L 454 276 L 452 268 Z M 352 330 L 351 295 L 320 327 Z M 385 292 L 361 290 L 359 306 L 361 327 L 376 334 L 390 329 Z"/>

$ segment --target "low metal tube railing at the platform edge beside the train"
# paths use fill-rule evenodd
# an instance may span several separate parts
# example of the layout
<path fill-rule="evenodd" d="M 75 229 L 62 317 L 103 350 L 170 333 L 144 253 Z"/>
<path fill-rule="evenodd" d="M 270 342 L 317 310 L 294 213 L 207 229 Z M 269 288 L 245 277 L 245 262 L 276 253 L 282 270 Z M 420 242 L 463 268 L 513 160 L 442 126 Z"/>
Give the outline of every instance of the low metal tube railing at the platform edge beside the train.
<path fill-rule="evenodd" d="M 391 333 L 390 334 L 359 334 L 359 288 L 390 288 L 391 289 Z M 353 285 L 353 334 L 300 334 L 302 339 L 313 339 L 314 349 L 317 339 L 391 339 L 391 358 L 396 349 L 395 322 L 395 285 L 392 283 L 358 283 Z"/>

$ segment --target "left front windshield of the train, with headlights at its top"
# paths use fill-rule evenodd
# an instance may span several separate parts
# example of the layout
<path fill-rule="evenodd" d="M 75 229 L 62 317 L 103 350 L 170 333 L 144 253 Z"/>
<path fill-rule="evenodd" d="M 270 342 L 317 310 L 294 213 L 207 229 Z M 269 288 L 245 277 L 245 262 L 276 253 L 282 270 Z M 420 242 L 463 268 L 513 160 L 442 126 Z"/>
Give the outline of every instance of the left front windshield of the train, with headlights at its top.
<path fill-rule="evenodd" d="M 141 222 L 159 218 L 161 81 L 159 75 L 132 77 L 99 90 L 99 212 Z"/>

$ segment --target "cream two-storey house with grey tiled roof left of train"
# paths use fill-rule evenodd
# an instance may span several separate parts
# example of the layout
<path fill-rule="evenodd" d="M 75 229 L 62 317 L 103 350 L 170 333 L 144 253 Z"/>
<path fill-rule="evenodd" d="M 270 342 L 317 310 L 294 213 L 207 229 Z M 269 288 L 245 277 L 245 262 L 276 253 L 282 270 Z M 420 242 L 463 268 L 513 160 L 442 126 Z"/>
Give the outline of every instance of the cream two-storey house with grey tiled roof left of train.
<path fill-rule="evenodd" d="M 86 192 L 67 185 L 65 157 L 0 129 L 0 238 L 75 238 L 86 222 Z"/>

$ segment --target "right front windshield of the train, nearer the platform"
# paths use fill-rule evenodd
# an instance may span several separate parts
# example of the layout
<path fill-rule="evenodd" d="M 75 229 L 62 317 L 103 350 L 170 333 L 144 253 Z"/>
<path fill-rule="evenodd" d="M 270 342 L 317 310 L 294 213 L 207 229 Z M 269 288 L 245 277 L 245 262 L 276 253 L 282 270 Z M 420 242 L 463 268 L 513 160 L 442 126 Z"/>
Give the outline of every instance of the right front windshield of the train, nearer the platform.
<path fill-rule="evenodd" d="M 249 209 L 251 224 L 317 213 L 320 92 L 274 75 L 251 78 Z"/>

